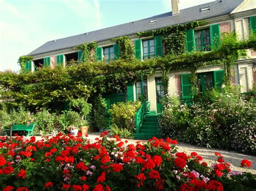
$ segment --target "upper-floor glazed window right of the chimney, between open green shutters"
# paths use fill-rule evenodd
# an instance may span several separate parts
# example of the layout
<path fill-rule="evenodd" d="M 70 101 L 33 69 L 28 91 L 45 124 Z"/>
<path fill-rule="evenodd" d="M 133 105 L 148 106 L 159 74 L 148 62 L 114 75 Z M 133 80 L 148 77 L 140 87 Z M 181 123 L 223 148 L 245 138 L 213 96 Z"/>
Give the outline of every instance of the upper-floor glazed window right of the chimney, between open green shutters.
<path fill-rule="evenodd" d="M 194 31 L 198 51 L 211 51 L 210 29 Z"/>

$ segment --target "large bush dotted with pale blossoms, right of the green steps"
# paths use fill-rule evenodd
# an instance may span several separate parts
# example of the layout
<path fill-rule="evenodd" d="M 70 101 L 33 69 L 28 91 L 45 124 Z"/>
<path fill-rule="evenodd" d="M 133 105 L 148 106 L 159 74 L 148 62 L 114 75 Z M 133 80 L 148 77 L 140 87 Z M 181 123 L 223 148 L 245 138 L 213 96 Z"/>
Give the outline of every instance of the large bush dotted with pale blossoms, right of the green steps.
<path fill-rule="evenodd" d="M 223 87 L 187 105 L 168 102 L 159 120 L 163 137 L 208 147 L 256 154 L 256 103 L 239 89 Z"/>

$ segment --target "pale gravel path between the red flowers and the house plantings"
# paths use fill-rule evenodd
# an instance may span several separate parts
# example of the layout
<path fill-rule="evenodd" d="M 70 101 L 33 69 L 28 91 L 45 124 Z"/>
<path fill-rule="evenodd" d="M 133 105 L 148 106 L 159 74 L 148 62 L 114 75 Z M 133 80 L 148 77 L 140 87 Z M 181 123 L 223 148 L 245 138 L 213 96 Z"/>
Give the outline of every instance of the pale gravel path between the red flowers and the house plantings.
<path fill-rule="evenodd" d="M 90 140 L 95 140 L 95 138 L 99 137 L 100 133 L 90 133 L 89 137 L 87 137 Z M 36 139 L 39 140 L 42 137 L 36 136 Z M 26 137 L 24 139 L 27 139 Z M 135 144 L 138 142 L 138 140 L 134 139 L 122 139 L 128 140 L 127 144 Z M 140 140 L 142 142 L 146 142 L 146 140 Z M 199 155 L 201 155 L 204 159 L 205 162 L 207 162 L 208 165 L 213 164 L 216 160 L 217 157 L 214 155 L 215 152 L 219 152 L 224 156 L 224 159 L 226 162 L 228 162 L 231 165 L 232 171 L 238 171 L 238 172 L 251 172 L 253 174 L 256 174 L 256 157 L 253 155 L 247 155 L 247 154 L 242 154 L 238 152 L 233 152 L 233 151 L 227 151 L 227 150 L 220 150 L 217 148 L 207 148 L 207 147 L 200 147 L 196 145 L 191 145 L 187 143 L 178 143 L 177 145 L 178 151 L 179 152 L 185 152 L 187 154 L 190 154 L 191 152 L 197 152 Z M 251 167 L 250 168 L 241 168 L 240 163 L 242 159 L 247 159 L 251 161 Z"/>

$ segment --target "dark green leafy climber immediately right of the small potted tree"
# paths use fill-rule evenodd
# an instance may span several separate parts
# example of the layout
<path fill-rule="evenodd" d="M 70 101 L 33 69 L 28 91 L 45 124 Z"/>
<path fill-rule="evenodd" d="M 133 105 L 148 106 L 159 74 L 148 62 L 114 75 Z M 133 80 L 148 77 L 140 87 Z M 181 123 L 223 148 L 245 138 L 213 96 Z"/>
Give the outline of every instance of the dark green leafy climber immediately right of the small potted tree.
<path fill-rule="evenodd" d="M 106 103 L 101 95 L 91 98 L 92 109 L 89 115 L 91 130 L 97 131 L 106 127 Z"/>

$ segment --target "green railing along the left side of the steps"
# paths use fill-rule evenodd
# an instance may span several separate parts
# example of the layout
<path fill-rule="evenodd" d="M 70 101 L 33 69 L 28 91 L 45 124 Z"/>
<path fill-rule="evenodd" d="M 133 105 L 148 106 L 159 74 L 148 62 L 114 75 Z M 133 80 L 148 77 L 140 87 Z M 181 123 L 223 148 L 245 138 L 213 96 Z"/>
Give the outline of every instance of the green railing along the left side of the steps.
<path fill-rule="evenodd" d="M 150 114 L 150 102 L 144 102 L 135 114 L 136 133 L 139 133 L 140 128 L 142 128 L 143 120 L 147 114 Z"/>

